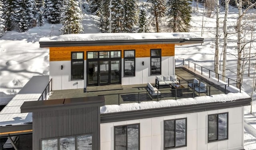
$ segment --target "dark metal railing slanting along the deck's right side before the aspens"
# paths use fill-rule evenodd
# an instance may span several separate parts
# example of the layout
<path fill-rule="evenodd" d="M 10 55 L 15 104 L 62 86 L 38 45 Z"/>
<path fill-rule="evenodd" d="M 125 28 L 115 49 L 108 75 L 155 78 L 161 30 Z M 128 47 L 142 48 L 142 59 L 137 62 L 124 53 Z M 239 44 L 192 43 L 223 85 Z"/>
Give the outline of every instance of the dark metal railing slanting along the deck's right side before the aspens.
<path fill-rule="evenodd" d="M 176 60 L 180 60 L 180 59 L 175 59 L 175 61 L 176 61 Z M 203 67 L 203 66 L 200 66 L 200 65 L 198 65 L 198 64 L 195 64 L 194 62 L 191 62 L 191 61 L 189 61 L 189 60 L 186 60 L 186 59 L 182 59 L 182 60 L 183 60 L 183 65 L 185 64 L 184 62 L 187 61 L 187 62 L 188 62 L 188 68 L 194 67 L 194 71 L 196 71 L 196 69 L 199 68 L 198 70 L 201 71 L 201 74 L 203 74 L 203 72 L 204 72 L 205 74 L 208 74 L 209 78 L 210 78 L 210 77 L 214 77 L 214 75 L 217 74 L 218 82 L 220 81 L 220 76 L 221 76 L 221 77 L 224 77 L 224 78 L 226 78 L 226 79 L 228 79 L 228 86 L 230 86 L 231 84 L 235 84 L 235 86 L 236 86 L 237 88 L 239 88 L 239 92 L 241 92 L 241 84 L 240 84 L 239 82 L 237 82 L 237 81 L 235 81 L 235 80 L 233 80 L 233 79 L 230 79 L 230 78 L 228 78 L 228 77 L 226 77 L 226 76 L 223 76 L 222 74 L 218 74 L 218 73 L 216 73 L 216 72 L 214 72 L 214 71 L 212 71 L 212 70 L 210 70 L 210 69 L 208 69 L 208 68 L 205 68 L 205 67 Z M 211 73 L 214 74 L 214 75 L 211 75 Z"/>

